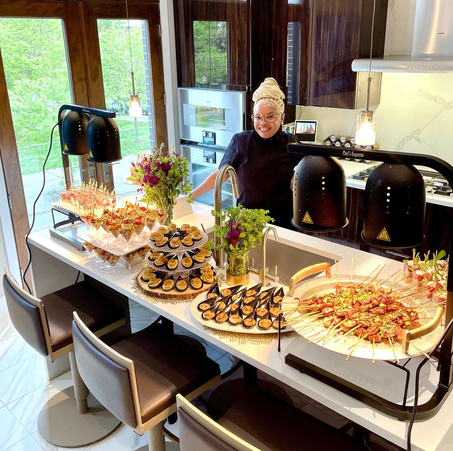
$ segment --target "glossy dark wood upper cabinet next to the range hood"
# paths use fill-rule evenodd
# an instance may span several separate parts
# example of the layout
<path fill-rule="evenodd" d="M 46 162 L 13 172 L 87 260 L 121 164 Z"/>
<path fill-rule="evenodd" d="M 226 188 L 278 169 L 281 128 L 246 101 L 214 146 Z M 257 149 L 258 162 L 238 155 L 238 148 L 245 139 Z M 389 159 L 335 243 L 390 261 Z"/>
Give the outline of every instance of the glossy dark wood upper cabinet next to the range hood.
<path fill-rule="evenodd" d="M 313 0 L 308 104 L 357 108 L 357 73 L 351 63 L 369 58 L 373 0 Z M 387 0 L 376 0 L 373 57 L 384 55 Z"/>

